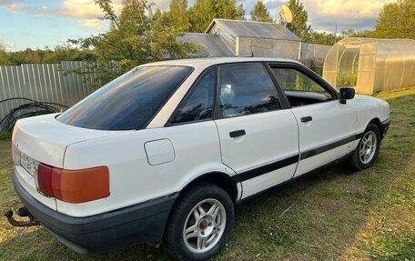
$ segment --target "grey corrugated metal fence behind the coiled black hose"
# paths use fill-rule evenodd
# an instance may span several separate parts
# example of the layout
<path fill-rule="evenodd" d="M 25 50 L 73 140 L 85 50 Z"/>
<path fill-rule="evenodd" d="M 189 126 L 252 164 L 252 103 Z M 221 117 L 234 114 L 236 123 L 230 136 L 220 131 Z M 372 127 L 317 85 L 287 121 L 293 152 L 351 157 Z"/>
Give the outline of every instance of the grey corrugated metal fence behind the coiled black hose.
<path fill-rule="evenodd" d="M 0 66 L 0 101 L 25 97 L 71 106 L 94 91 L 91 81 L 86 62 Z M 23 103 L 13 100 L 0 104 L 0 119 Z"/>

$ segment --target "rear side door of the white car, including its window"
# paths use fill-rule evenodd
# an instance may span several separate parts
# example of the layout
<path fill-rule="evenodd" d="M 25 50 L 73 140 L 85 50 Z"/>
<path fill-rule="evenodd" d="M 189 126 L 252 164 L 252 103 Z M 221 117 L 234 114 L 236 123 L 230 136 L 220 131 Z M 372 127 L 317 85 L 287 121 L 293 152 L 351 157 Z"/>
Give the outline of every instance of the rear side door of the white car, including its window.
<path fill-rule="evenodd" d="M 299 159 L 298 125 L 262 63 L 218 67 L 222 161 L 242 183 L 242 198 L 290 179 Z"/>

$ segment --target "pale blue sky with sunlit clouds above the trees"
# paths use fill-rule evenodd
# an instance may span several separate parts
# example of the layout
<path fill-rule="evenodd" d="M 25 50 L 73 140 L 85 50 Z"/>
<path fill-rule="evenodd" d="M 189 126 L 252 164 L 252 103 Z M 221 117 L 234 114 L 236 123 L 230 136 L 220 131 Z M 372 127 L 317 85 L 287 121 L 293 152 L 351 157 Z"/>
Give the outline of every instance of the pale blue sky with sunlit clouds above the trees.
<path fill-rule="evenodd" d="M 167 10 L 170 0 L 152 0 L 153 9 Z M 195 0 L 189 0 L 192 5 Z M 121 0 L 114 0 L 119 10 Z M 247 17 L 256 0 L 237 0 Z M 271 15 L 287 0 L 263 0 Z M 312 29 L 334 32 L 335 25 L 357 31 L 371 29 L 383 5 L 396 0 L 300 0 L 309 12 Z M 64 45 L 69 38 L 96 35 L 106 31 L 108 23 L 93 0 L 0 0 L 0 43 L 8 51 Z"/>

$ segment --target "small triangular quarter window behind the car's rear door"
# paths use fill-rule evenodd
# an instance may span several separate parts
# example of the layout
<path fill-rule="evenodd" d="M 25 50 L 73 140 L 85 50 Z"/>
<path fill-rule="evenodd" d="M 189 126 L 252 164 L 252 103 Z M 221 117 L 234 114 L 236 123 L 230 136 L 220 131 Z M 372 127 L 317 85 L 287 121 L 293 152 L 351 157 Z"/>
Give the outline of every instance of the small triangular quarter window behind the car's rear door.
<path fill-rule="evenodd" d="M 212 118 L 215 97 L 216 67 L 207 69 L 179 105 L 170 124 L 190 123 Z"/>

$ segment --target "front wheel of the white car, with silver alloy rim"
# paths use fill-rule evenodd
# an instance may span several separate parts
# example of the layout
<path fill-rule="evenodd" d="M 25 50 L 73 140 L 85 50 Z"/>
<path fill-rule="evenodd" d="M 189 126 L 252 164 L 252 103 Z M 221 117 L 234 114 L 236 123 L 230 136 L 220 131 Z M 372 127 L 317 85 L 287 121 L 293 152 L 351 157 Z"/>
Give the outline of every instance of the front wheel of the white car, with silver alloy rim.
<path fill-rule="evenodd" d="M 350 165 L 358 171 L 373 166 L 378 158 L 379 149 L 380 129 L 377 125 L 369 124 L 350 158 Z"/>

